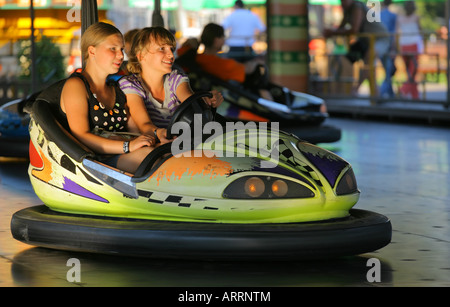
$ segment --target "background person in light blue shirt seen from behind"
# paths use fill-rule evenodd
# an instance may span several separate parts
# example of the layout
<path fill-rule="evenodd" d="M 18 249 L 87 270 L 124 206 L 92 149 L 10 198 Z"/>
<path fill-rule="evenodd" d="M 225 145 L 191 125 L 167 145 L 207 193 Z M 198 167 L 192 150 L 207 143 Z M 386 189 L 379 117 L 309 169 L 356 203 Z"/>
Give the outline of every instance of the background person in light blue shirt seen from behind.
<path fill-rule="evenodd" d="M 222 25 L 226 31 L 229 31 L 227 45 L 230 47 L 230 53 L 237 54 L 233 58 L 239 62 L 251 59 L 255 35 L 266 30 L 266 26 L 259 17 L 245 9 L 241 0 L 237 0 L 233 13 L 225 18 Z"/>

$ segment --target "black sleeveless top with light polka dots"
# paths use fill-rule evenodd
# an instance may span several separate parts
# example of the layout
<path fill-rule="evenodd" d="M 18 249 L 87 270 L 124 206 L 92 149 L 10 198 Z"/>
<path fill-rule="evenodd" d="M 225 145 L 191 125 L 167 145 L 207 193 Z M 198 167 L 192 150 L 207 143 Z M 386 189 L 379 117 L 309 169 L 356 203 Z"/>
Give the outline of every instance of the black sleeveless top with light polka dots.
<path fill-rule="evenodd" d="M 125 108 L 126 96 L 118 87 L 117 83 L 111 82 L 109 84 L 115 89 L 116 101 L 112 109 L 107 109 L 101 101 L 97 100 L 95 93 L 91 92 L 89 83 L 82 74 L 74 73 L 72 76 L 80 78 L 86 85 L 86 90 L 89 95 L 89 125 L 91 131 L 126 131 L 128 122 L 128 114 Z"/>

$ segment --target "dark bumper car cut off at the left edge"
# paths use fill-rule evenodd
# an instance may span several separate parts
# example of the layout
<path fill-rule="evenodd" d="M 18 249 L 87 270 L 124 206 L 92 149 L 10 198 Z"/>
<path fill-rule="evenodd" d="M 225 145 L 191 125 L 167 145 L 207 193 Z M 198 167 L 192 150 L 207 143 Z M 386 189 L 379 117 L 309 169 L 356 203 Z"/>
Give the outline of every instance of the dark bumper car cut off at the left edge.
<path fill-rule="evenodd" d="M 0 107 L 0 157 L 28 157 L 30 117 L 23 113 L 24 101 L 16 99 Z"/>

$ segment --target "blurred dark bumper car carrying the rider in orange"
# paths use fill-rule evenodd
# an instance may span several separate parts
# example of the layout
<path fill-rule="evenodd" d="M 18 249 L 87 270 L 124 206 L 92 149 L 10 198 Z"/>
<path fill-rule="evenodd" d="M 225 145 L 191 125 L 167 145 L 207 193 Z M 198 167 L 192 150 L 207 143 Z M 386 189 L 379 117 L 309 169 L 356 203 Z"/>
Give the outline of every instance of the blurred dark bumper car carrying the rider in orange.
<path fill-rule="evenodd" d="M 311 143 L 336 142 L 341 138 L 339 128 L 325 125 L 328 118 L 326 104 L 322 98 L 290 90 L 268 81 L 265 73 L 250 76 L 244 84 L 224 81 L 206 73 L 195 65 L 195 51 L 189 50 L 175 61 L 176 67 L 184 71 L 195 91 L 216 89 L 224 96 L 224 102 L 217 112 L 234 121 L 280 122 L 282 128 L 295 126 L 296 135 Z M 264 79 L 265 81 L 261 81 Z M 273 99 L 260 96 L 256 84 L 263 83 L 264 89 Z"/>

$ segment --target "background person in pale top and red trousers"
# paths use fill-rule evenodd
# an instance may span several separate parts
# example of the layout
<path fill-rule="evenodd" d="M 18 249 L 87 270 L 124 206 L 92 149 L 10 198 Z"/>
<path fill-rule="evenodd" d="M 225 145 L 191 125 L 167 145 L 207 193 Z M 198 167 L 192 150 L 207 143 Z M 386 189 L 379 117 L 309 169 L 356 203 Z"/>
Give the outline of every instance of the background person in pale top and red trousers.
<path fill-rule="evenodd" d="M 400 33 L 398 44 L 405 61 L 408 80 L 402 85 L 400 92 L 404 96 L 411 95 L 412 98 L 418 99 L 416 74 L 419 66 L 418 55 L 423 53 L 423 40 L 420 34 L 419 16 L 415 13 L 416 5 L 414 1 L 407 1 L 404 5 L 405 15 L 398 16 L 397 29 Z"/>

